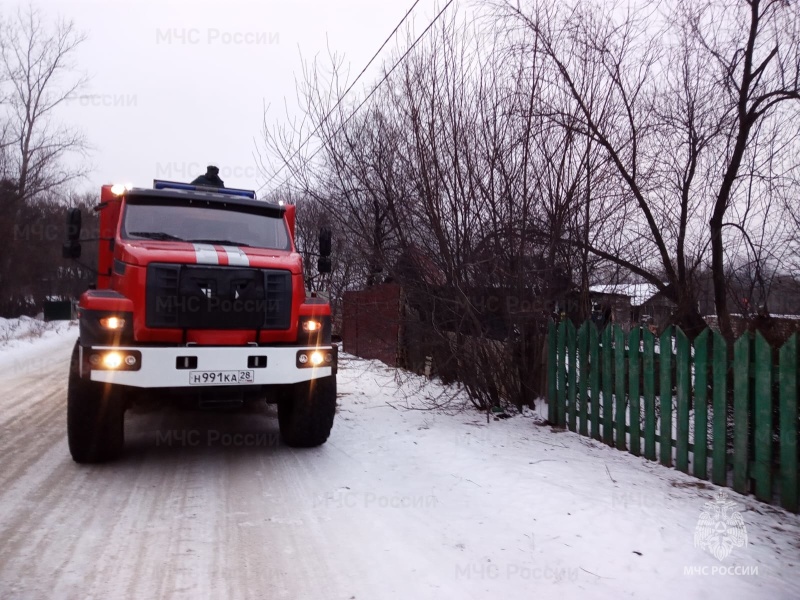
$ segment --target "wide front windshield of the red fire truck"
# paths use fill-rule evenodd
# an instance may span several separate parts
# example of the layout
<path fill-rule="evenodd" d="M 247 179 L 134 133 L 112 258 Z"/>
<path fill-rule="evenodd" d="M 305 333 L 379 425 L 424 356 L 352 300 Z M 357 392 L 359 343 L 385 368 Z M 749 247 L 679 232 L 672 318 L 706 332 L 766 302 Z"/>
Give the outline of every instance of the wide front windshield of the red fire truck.
<path fill-rule="evenodd" d="M 289 250 L 285 221 L 235 206 L 127 203 L 122 223 L 126 239 L 197 242 Z"/>

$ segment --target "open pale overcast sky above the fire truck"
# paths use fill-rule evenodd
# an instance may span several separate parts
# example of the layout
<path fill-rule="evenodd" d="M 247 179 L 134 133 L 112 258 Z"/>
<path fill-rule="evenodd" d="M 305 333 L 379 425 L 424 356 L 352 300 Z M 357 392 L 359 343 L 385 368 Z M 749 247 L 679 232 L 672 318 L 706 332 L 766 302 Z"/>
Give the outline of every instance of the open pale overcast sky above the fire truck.
<path fill-rule="evenodd" d="M 88 39 L 74 60 L 90 78 L 59 117 L 92 146 L 89 179 L 149 186 L 186 181 L 216 164 L 230 187 L 264 182 L 253 158 L 263 106 L 268 120 L 297 106 L 300 56 L 343 53 L 354 77 L 412 0 L 190 2 L 42 0 L 46 19 L 74 21 Z M 6 5 L 8 6 L 8 5 Z M 420 32 L 435 0 L 413 15 Z M 399 43 L 405 47 L 405 37 Z M 389 56 L 394 44 L 382 56 Z M 376 61 L 376 65 L 379 61 Z M 361 83 L 375 81 L 365 76 Z M 357 89 L 361 87 L 361 83 Z M 355 90 L 354 90 L 355 91 Z M 280 180 L 280 178 L 278 179 Z"/>

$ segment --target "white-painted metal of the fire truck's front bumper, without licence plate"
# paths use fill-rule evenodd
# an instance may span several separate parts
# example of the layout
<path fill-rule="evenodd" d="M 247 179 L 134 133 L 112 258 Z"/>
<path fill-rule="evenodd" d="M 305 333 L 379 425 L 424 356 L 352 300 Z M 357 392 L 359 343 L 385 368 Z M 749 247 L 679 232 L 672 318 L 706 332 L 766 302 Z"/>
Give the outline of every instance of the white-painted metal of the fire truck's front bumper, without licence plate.
<path fill-rule="evenodd" d="M 137 371 L 112 371 L 92 369 L 89 378 L 92 381 L 127 385 L 138 388 L 175 388 L 175 387 L 214 387 L 231 385 L 225 381 L 219 383 L 205 383 L 197 385 L 197 377 L 192 373 L 197 372 L 228 372 L 237 373 L 249 371 L 252 380 L 238 385 L 273 385 L 285 383 L 298 383 L 310 381 L 320 377 L 333 375 L 333 368 L 297 366 L 297 352 L 299 350 L 313 350 L 313 347 L 264 347 L 264 346 L 180 346 L 152 348 L 147 346 L 93 346 L 91 350 L 126 350 L 141 352 L 141 367 Z M 87 349 L 81 348 L 82 352 Z M 176 366 L 178 357 L 197 357 L 197 367 L 192 369 L 179 369 Z M 250 356 L 266 356 L 267 366 L 264 368 L 249 368 L 247 359 Z M 335 356 L 335 354 L 334 354 Z M 85 364 L 81 360 L 81 364 Z"/>

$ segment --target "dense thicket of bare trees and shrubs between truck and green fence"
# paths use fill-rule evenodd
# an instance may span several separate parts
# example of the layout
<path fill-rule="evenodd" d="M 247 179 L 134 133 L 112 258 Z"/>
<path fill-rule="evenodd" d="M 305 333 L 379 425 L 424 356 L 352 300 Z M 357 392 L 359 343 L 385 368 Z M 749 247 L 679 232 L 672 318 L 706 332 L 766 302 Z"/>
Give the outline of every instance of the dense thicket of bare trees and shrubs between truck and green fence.
<path fill-rule="evenodd" d="M 402 284 L 408 346 L 476 406 L 524 404 L 546 319 L 589 315 L 594 270 L 653 283 L 689 334 L 705 326 L 699 277 L 737 121 L 708 56 L 724 44 L 698 15 L 722 3 L 488 3 L 500 19 L 440 22 L 364 100 L 339 101 L 335 55 L 306 65 L 304 116 L 265 127 L 265 154 L 308 215 L 335 222 L 360 281 Z M 771 246 L 796 230 L 781 217 L 795 162 L 778 159 L 793 109 L 778 106 L 750 131 L 723 221 L 723 262 L 749 253 L 751 273 L 788 262 Z"/>

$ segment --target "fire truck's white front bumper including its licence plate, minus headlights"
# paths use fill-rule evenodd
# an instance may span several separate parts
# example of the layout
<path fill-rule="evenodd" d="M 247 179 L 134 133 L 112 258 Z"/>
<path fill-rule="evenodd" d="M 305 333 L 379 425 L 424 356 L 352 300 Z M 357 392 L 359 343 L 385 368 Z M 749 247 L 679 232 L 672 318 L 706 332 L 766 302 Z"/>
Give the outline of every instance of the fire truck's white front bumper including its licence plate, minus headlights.
<path fill-rule="evenodd" d="M 299 383 L 336 374 L 337 346 L 81 346 L 81 377 L 136 388 L 201 388 Z M 324 366 L 301 364 L 299 355 L 330 353 Z M 136 354 L 135 369 L 92 368 L 92 353 Z M 188 360 L 187 360 L 188 359 Z"/>

